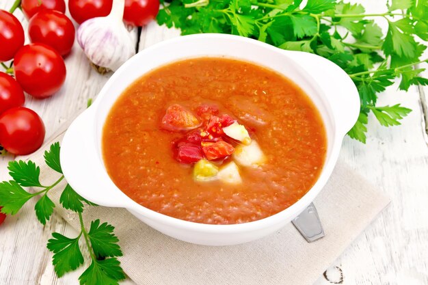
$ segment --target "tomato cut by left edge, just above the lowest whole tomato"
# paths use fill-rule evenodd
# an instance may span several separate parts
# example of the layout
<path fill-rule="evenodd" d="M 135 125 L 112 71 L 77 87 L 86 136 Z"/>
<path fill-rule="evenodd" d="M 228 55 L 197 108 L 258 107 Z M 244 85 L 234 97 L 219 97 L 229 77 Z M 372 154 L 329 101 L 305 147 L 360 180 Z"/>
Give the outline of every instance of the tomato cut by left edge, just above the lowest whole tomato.
<path fill-rule="evenodd" d="M 4 111 L 24 105 L 23 88 L 5 72 L 0 72 L 0 114 Z"/>

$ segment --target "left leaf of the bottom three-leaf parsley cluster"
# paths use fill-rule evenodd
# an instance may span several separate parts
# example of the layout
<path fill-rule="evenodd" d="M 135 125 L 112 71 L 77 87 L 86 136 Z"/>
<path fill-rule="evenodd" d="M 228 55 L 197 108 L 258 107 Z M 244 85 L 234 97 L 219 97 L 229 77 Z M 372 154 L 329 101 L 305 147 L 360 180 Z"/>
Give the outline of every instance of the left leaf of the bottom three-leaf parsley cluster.
<path fill-rule="evenodd" d="M 58 277 L 61 277 L 83 264 L 83 256 L 79 248 L 80 235 L 75 239 L 69 239 L 62 234 L 54 232 L 52 236 L 53 239 L 49 239 L 47 248 L 54 253 L 52 263 Z"/>

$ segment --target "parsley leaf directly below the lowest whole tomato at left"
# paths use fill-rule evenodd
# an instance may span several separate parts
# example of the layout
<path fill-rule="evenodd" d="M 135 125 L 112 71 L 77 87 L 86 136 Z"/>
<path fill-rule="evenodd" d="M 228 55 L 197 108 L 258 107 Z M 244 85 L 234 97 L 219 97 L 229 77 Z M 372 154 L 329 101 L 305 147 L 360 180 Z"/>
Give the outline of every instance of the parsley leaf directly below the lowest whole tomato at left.
<path fill-rule="evenodd" d="M 39 181 L 40 167 L 33 161 L 10 161 L 9 174 L 23 187 L 42 187 Z"/>

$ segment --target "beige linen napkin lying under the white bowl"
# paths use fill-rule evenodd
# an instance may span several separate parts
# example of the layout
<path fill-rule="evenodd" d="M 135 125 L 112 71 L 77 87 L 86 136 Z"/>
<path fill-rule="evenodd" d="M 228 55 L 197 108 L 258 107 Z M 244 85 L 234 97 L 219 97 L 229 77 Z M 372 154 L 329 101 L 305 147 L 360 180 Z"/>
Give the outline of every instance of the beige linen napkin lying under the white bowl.
<path fill-rule="evenodd" d="M 56 180 L 58 174 L 46 167 L 42 154 L 51 143 L 62 140 L 67 126 L 28 157 L 40 165 L 46 182 Z M 54 202 L 59 200 L 59 190 L 50 193 Z M 85 223 L 101 219 L 116 227 L 124 254 L 119 258 L 122 268 L 137 284 L 312 285 L 388 203 L 382 192 L 339 161 L 315 200 L 326 234 L 315 243 L 307 243 L 291 223 L 258 241 L 208 247 L 165 236 L 121 208 L 88 206 L 83 218 Z M 71 226 L 79 227 L 77 215 L 55 209 Z"/>

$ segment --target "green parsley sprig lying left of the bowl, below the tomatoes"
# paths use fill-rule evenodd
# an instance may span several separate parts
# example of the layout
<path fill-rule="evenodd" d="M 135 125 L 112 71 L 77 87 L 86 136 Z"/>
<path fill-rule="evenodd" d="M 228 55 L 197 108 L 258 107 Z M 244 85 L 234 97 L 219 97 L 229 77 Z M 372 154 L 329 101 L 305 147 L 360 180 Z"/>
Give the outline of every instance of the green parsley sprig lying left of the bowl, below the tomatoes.
<path fill-rule="evenodd" d="M 40 182 L 40 167 L 33 161 L 10 161 L 8 165 L 10 181 L 0 183 L 0 205 L 1 212 L 15 215 L 31 198 L 40 196 L 36 203 L 36 217 L 43 225 L 49 221 L 55 208 L 55 203 L 49 198 L 50 191 L 58 191 L 59 182 L 64 180 L 61 163 L 59 162 L 59 143 L 52 144 L 49 150 L 44 152 L 44 161 L 51 169 L 59 174 L 59 178 L 51 185 L 42 185 Z M 24 187 L 37 189 L 28 192 Z M 79 277 L 81 285 L 104 285 L 118 284 L 119 280 L 125 278 L 120 267 L 118 256 L 122 251 L 118 245 L 118 237 L 113 233 L 114 227 L 109 223 L 101 223 L 99 219 L 92 221 L 89 230 L 83 223 L 83 211 L 85 204 L 96 206 L 92 202 L 81 197 L 70 185 L 62 190 L 59 204 L 64 208 L 79 215 L 80 232 L 70 238 L 53 232 L 49 239 L 47 248 L 53 252 L 53 266 L 58 277 L 65 273 L 74 271 L 84 263 L 83 254 L 79 248 L 79 241 L 84 241 L 90 254 L 91 263 Z"/>

